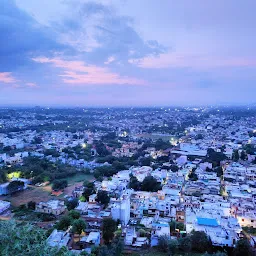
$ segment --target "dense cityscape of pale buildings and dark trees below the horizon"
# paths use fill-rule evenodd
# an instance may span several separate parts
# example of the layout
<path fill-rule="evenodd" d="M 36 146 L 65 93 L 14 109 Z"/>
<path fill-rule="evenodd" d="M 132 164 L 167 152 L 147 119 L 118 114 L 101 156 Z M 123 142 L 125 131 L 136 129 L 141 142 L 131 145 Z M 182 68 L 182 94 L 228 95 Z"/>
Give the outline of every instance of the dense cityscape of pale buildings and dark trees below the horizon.
<path fill-rule="evenodd" d="M 253 255 L 255 114 L 2 108 L 1 255 Z"/>

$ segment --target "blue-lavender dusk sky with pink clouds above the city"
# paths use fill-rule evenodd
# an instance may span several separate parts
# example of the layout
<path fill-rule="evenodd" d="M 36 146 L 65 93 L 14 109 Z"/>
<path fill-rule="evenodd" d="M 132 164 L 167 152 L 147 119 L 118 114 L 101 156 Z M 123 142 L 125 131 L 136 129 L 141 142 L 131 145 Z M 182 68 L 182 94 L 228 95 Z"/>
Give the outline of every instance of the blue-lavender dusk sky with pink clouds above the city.
<path fill-rule="evenodd" d="M 0 0 L 0 105 L 256 103 L 255 9 L 255 0 Z"/>

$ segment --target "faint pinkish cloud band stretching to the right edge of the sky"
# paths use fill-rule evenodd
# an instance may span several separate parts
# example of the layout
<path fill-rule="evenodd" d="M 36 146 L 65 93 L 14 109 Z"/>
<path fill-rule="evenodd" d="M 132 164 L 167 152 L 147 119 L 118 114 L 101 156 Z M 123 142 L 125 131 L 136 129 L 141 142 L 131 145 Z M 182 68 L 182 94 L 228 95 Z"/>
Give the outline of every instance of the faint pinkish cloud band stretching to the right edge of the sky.
<path fill-rule="evenodd" d="M 129 62 L 141 68 L 226 68 L 256 67 L 256 59 L 240 57 L 217 57 L 191 54 L 166 53 L 142 59 L 130 59 Z"/>

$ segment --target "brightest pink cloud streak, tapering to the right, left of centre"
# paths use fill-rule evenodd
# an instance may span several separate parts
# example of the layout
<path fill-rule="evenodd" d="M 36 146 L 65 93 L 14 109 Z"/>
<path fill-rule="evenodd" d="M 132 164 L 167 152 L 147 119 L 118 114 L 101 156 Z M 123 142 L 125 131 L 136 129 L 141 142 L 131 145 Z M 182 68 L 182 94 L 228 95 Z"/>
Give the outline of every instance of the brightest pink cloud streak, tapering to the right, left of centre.
<path fill-rule="evenodd" d="M 120 76 L 106 67 L 86 65 L 83 61 L 66 61 L 59 58 L 50 59 L 45 57 L 34 58 L 33 60 L 39 63 L 50 63 L 57 68 L 62 68 L 64 72 L 59 76 L 67 84 L 146 84 L 144 80 Z"/>

